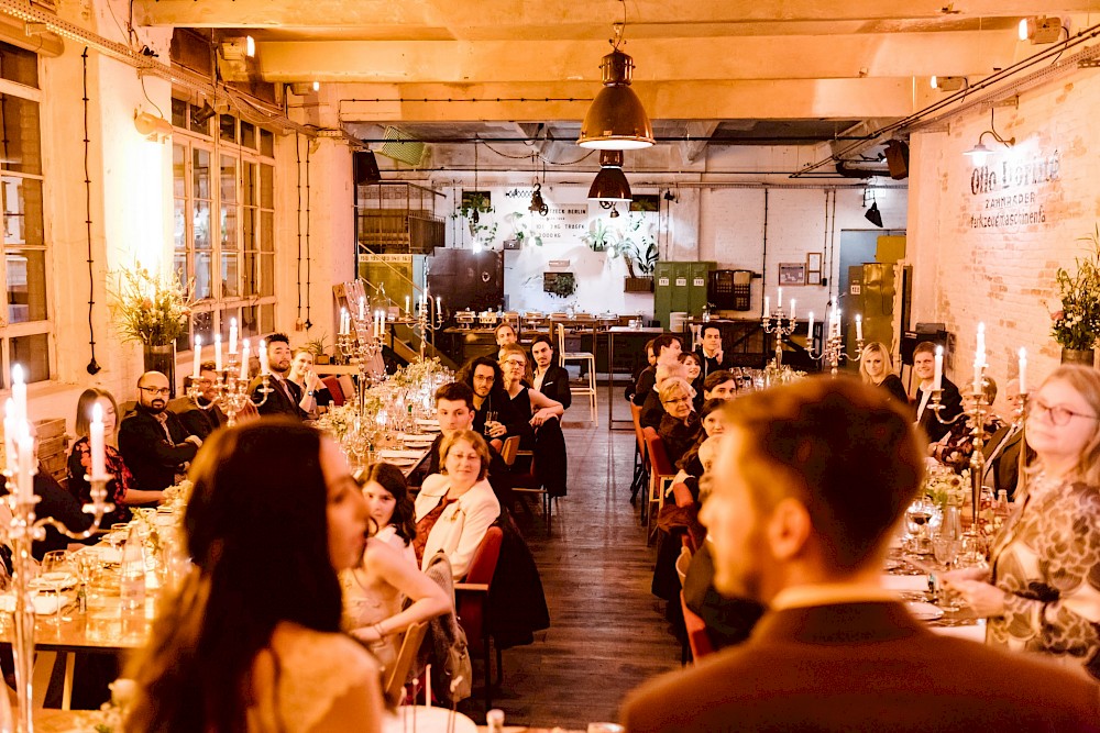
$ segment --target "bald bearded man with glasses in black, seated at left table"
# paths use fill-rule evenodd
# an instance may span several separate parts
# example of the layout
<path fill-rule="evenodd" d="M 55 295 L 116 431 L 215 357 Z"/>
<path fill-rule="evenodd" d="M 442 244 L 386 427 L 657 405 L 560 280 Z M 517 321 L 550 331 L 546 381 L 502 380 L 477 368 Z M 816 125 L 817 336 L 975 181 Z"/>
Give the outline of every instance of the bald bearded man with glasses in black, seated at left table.
<path fill-rule="evenodd" d="M 151 502 L 163 498 L 161 491 L 176 482 L 202 445 L 167 407 L 168 378 L 146 371 L 138 380 L 138 403 L 119 426 L 119 452 Z"/>

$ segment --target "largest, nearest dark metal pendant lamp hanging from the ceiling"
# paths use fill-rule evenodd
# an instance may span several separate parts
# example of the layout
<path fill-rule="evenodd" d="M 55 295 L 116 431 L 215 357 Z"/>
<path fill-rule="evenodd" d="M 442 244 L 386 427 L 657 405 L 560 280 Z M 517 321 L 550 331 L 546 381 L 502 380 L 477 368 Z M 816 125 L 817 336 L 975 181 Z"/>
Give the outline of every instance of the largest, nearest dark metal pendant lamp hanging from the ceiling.
<path fill-rule="evenodd" d="M 612 53 L 600 64 L 604 88 L 592 100 L 581 123 L 576 144 L 598 151 L 635 151 L 651 146 L 653 125 L 646 114 L 638 95 L 630 88 L 634 59 L 619 51 L 626 31 L 626 0 L 623 1 L 623 22 L 615 23 L 615 37 L 609 40 Z"/>

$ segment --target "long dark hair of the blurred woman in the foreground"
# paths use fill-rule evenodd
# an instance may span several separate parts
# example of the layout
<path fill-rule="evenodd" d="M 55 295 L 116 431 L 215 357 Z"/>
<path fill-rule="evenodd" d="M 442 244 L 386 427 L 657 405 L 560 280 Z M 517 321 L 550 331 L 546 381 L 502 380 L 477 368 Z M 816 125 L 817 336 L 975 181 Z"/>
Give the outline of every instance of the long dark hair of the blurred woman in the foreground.
<path fill-rule="evenodd" d="M 191 464 L 184 514 L 197 569 L 163 604 L 144 658 L 133 730 L 244 730 L 246 680 L 275 626 L 337 632 L 321 436 L 270 419 L 216 432 Z"/>

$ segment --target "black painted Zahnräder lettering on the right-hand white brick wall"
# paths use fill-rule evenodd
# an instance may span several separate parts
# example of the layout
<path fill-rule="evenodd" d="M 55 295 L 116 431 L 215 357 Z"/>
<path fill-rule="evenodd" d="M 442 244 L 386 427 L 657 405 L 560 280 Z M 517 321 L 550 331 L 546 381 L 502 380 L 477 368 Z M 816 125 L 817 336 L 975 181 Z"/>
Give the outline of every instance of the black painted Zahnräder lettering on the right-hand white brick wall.
<path fill-rule="evenodd" d="M 971 229 L 1003 229 L 1045 224 L 1043 199 L 1062 176 L 1062 155 L 1019 157 L 974 168 L 970 173 L 970 198 L 974 207 L 967 214 Z"/>

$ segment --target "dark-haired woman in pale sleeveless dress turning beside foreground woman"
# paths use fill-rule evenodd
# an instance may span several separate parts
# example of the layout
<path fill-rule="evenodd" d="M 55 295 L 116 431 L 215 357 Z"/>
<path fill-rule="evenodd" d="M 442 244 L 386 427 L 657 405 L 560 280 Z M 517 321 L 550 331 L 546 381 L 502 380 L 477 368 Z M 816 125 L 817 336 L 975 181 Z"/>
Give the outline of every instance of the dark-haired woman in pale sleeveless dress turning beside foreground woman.
<path fill-rule="evenodd" d="M 344 625 L 371 647 L 383 667 L 389 667 L 397 659 L 399 634 L 414 623 L 447 613 L 452 604 L 443 589 L 417 567 L 411 547 L 415 509 L 400 469 L 374 464 L 363 493 L 372 519 L 383 529 L 366 541 L 360 564 L 341 575 Z M 389 540 L 383 537 L 386 531 Z M 403 610 L 406 599 L 409 606 Z"/>

